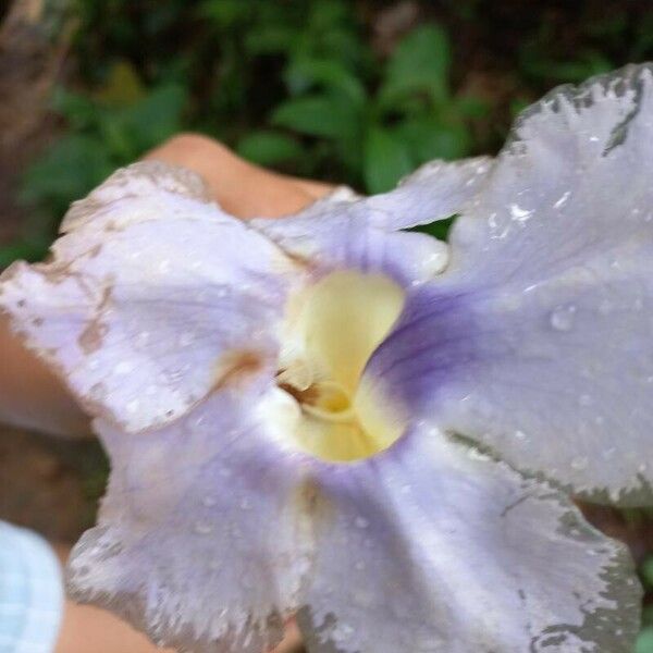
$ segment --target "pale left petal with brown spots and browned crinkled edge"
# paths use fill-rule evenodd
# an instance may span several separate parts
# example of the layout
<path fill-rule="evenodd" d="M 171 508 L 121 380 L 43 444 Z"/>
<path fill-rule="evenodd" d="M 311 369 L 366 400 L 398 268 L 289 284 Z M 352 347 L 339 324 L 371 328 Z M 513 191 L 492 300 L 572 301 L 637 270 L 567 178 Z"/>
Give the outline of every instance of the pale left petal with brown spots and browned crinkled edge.
<path fill-rule="evenodd" d="M 27 345 L 91 415 L 130 431 L 273 374 L 275 328 L 300 278 L 274 244 L 167 170 L 116 173 L 73 207 L 53 260 L 17 263 L 0 285 Z"/>

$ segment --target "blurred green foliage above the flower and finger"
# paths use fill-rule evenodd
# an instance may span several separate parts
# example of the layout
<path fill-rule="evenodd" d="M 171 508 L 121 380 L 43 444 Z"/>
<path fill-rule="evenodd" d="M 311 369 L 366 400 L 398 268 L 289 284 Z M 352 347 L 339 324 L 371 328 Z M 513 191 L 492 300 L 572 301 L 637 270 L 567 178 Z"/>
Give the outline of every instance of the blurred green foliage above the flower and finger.
<path fill-rule="evenodd" d="M 389 3 L 75 0 L 75 74 L 52 98 L 62 134 L 20 193 L 35 215 L 32 245 L 0 250 L 0 264 L 39 256 L 71 200 L 176 132 L 201 131 L 262 165 L 377 193 L 430 159 L 495 149 L 510 116 L 557 83 L 653 56 L 648 14 L 588 10 L 560 39 L 570 16 L 552 13 L 555 2 L 537 3 L 541 15 L 517 5 L 491 15 L 477 0 L 439 4 L 414 3 L 417 20 L 380 46 L 373 22 Z M 510 24 L 515 15 L 523 25 Z M 481 59 L 493 57 L 483 48 L 504 47 L 497 25 L 510 69 L 495 88 L 475 89 L 469 40 Z M 485 63 L 482 74 L 496 82 Z"/>

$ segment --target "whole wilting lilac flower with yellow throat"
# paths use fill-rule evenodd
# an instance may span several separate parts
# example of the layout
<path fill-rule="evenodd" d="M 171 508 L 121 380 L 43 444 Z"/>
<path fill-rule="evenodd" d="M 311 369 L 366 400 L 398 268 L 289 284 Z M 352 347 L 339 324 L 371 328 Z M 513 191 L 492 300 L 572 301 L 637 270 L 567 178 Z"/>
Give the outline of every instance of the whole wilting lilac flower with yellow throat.
<path fill-rule="evenodd" d="M 0 305 L 111 458 L 74 596 L 183 651 L 627 653 L 652 498 L 653 74 L 558 89 L 495 160 L 286 219 L 139 163 Z M 448 245 L 402 231 L 457 213 Z"/>

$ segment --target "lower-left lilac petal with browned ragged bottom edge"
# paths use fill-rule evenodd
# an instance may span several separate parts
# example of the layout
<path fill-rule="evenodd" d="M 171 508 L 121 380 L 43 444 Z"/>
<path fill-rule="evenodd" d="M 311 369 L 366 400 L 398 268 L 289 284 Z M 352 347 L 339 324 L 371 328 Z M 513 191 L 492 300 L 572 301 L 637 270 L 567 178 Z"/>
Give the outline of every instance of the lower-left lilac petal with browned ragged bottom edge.
<path fill-rule="evenodd" d="M 69 590 L 156 642 L 195 653 L 261 653 L 297 607 L 310 540 L 299 472 L 224 392 L 143 435 L 97 421 L 112 460 L 98 526 Z"/>

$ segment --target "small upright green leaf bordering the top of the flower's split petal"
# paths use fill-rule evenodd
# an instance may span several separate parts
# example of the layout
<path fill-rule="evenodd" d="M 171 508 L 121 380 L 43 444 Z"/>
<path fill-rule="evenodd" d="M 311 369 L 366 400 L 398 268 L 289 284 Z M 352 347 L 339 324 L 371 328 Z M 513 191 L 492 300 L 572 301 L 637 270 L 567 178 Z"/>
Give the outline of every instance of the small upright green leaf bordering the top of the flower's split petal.
<path fill-rule="evenodd" d="M 415 167 L 408 144 L 382 127 L 371 127 L 365 139 L 364 177 L 369 193 L 383 193 Z"/>

